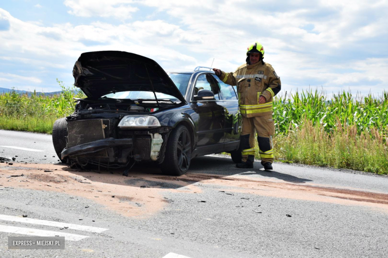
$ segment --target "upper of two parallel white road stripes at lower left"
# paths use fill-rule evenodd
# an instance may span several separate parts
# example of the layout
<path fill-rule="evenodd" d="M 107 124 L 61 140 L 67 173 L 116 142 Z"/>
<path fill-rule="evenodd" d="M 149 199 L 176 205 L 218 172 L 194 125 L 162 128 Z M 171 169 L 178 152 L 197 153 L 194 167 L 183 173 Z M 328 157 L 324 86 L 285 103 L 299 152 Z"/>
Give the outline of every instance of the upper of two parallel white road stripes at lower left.
<path fill-rule="evenodd" d="M 60 228 L 68 227 L 69 229 L 82 230 L 82 231 L 95 232 L 95 233 L 101 233 L 105 230 L 108 230 L 107 228 L 96 228 L 96 227 L 82 226 L 82 225 L 70 224 L 70 223 L 64 223 L 64 222 L 22 218 L 22 217 L 8 216 L 8 215 L 2 215 L 2 214 L 0 214 L 0 220 L 22 222 L 22 223 L 29 223 L 29 224 L 36 224 L 36 225 L 45 225 L 45 226 L 60 227 Z"/>

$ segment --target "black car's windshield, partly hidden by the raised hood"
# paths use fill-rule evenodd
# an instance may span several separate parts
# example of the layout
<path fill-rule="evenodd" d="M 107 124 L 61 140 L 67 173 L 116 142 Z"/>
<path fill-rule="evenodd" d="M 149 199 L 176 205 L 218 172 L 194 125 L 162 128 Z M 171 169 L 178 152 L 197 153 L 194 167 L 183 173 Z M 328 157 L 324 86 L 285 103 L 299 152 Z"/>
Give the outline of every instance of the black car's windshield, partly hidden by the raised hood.
<path fill-rule="evenodd" d="M 190 73 L 168 73 L 171 80 L 175 83 L 179 91 L 183 96 L 186 95 L 186 91 L 189 85 L 189 80 L 191 77 Z M 121 91 L 116 93 L 109 93 L 101 96 L 101 98 L 112 98 L 112 99 L 155 99 L 155 95 L 152 91 Z M 156 97 L 158 99 L 169 99 L 173 102 L 178 102 L 179 100 L 169 94 L 156 92 Z"/>

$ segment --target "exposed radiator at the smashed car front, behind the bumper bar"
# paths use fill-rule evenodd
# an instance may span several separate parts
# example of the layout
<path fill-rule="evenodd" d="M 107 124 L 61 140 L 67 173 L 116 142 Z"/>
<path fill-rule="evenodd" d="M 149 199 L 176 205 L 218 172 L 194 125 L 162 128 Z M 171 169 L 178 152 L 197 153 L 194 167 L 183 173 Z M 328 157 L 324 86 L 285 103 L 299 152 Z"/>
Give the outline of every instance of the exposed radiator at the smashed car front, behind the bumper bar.
<path fill-rule="evenodd" d="M 68 121 L 67 147 L 70 148 L 104 139 L 105 133 L 103 127 L 102 119 Z M 101 150 L 93 154 L 86 154 L 85 156 L 107 157 L 107 153 L 106 150 Z"/>

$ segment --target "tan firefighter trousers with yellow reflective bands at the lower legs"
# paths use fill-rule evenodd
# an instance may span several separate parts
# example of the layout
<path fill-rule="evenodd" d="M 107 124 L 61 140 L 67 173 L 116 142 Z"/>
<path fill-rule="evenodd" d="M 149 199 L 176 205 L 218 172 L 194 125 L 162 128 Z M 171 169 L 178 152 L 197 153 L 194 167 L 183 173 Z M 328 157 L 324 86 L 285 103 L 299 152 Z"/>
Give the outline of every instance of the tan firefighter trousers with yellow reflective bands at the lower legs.
<path fill-rule="evenodd" d="M 274 162 L 274 149 L 272 136 L 275 134 L 275 125 L 272 115 L 242 118 L 241 143 L 242 161 L 253 163 L 255 159 L 254 136 L 257 132 L 257 141 L 259 143 L 259 154 L 262 163 Z"/>

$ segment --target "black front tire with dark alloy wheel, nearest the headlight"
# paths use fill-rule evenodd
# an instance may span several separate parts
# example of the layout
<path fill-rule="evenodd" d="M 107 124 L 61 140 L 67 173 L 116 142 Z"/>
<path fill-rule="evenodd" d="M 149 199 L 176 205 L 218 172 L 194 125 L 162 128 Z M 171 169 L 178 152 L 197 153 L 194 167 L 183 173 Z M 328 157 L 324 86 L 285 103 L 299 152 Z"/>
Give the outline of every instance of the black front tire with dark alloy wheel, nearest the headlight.
<path fill-rule="evenodd" d="M 192 139 L 189 129 L 180 125 L 175 128 L 168 140 L 162 163 L 162 172 L 170 176 L 182 176 L 190 167 Z"/>

